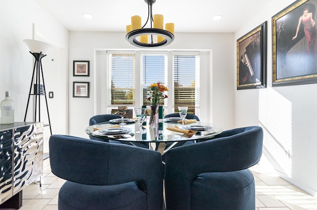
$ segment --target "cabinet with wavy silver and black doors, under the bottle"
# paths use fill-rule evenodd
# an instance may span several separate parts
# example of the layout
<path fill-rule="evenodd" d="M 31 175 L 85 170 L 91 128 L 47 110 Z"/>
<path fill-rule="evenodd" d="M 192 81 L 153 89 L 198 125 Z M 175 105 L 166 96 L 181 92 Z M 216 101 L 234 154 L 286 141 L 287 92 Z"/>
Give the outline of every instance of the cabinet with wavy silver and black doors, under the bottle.
<path fill-rule="evenodd" d="M 43 175 L 43 123 L 0 125 L 0 209 L 19 209 L 22 190 Z"/>

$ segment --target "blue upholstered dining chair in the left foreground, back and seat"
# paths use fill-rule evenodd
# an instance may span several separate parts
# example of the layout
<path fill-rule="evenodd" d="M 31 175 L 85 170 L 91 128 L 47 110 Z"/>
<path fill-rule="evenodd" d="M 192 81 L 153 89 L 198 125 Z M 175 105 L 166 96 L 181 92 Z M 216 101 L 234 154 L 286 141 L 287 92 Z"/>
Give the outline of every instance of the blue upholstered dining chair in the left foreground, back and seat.
<path fill-rule="evenodd" d="M 159 152 L 67 135 L 51 135 L 53 174 L 65 179 L 58 210 L 162 210 Z"/>

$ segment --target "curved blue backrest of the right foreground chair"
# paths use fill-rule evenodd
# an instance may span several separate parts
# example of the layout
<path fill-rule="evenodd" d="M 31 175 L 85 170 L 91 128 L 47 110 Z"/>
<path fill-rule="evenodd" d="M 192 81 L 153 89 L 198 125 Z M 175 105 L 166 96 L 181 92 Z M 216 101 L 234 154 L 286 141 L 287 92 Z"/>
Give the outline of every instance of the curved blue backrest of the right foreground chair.
<path fill-rule="evenodd" d="M 186 210 L 191 206 L 191 185 L 199 174 L 252 167 L 260 161 L 262 147 L 262 127 L 250 126 L 224 131 L 204 142 L 170 149 L 166 152 L 164 172 L 167 209 Z"/>

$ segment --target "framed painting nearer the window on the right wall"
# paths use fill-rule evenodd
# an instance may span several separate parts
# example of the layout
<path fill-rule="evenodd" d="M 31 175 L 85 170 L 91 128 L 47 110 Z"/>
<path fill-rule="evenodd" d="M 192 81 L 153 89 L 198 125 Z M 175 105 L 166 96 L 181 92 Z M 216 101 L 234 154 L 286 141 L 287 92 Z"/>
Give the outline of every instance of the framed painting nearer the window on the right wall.
<path fill-rule="evenodd" d="M 237 89 L 266 87 L 266 21 L 237 40 Z"/>

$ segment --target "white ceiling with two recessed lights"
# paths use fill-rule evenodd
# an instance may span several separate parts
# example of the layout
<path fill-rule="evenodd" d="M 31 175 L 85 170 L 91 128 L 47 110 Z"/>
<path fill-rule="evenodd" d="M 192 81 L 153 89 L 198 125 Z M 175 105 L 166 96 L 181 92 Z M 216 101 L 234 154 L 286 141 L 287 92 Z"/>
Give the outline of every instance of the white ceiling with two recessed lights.
<path fill-rule="evenodd" d="M 131 16 L 144 25 L 148 6 L 144 0 L 34 0 L 69 31 L 124 32 Z M 273 0 L 157 0 L 153 14 L 175 23 L 177 32 L 235 32 Z M 82 13 L 90 13 L 86 19 Z M 214 21 L 214 15 L 221 20 Z M 259 23 L 260 25 L 261 23 Z M 256 27 L 256 26 L 255 26 Z"/>

